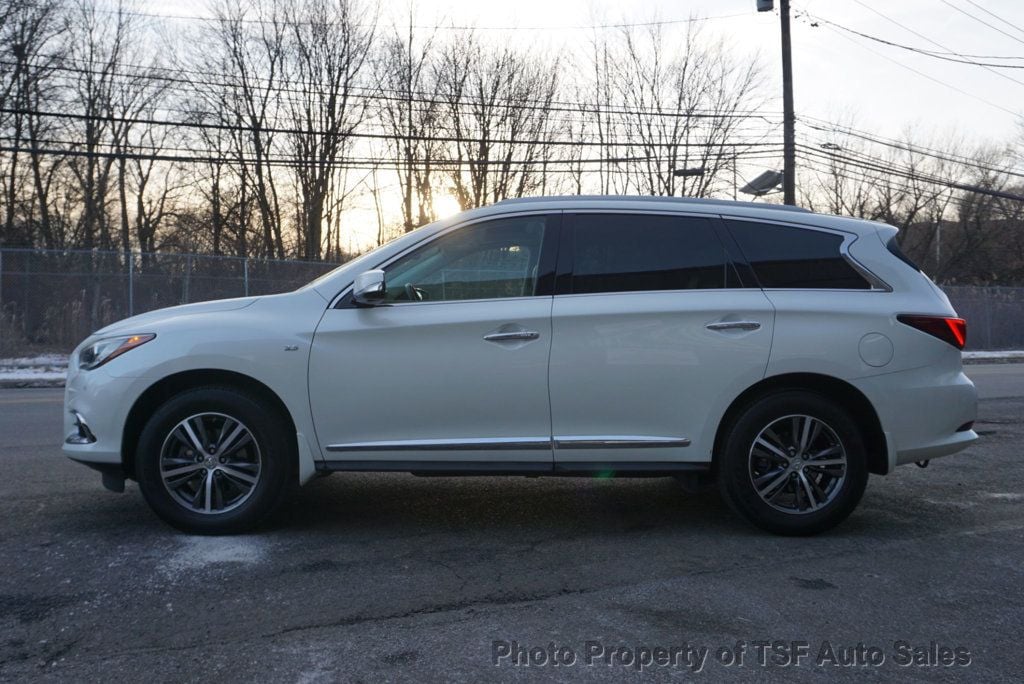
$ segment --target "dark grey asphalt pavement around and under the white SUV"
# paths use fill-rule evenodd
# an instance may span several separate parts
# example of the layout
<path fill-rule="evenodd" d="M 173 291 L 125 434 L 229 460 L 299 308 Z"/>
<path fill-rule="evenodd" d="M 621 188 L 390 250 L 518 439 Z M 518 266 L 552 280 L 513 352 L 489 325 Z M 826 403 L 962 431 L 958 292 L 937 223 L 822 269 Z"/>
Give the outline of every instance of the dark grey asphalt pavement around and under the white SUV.
<path fill-rule="evenodd" d="M 669 479 L 400 474 L 317 480 L 259 535 L 187 537 L 60 455 L 58 390 L 0 391 L 0 680 L 610 681 L 674 657 L 644 671 L 1019 681 L 1024 365 L 968 372 L 983 439 L 872 477 L 813 539 L 759 532 Z M 810 654 L 762 667 L 771 640 Z M 496 641 L 575 662 L 495 666 Z M 742 667 L 723 665 L 738 642 Z M 858 644 L 884 664 L 833 665 Z M 699 672 L 684 645 L 710 649 Z M 901 665 L 944 647 L 970 664 Z"/>

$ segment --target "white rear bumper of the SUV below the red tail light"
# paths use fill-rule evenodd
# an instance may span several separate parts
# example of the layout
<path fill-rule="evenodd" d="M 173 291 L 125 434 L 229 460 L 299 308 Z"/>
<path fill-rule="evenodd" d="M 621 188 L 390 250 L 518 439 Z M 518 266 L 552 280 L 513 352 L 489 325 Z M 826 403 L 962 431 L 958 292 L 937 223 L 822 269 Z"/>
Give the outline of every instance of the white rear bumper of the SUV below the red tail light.
<path fill-rule="evenodd" d="M 930 366 L 853 383 L 878 412 L 888 446 L 887 472 L 914 461 L 955 454 L 978 439 L 959 430 L 978 414 L 978 392 L 955 368 Z"/>

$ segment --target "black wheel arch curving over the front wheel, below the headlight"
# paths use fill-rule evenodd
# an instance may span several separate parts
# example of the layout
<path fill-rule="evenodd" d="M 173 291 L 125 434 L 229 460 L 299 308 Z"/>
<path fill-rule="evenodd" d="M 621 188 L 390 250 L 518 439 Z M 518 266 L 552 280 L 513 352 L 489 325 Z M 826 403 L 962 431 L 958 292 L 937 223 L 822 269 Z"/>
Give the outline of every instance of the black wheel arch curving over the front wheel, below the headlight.
<path fill-rule="evenodd" d="M 288 425 L 289 434 L 296 435 L 295 419 L 276 392 L 255 378 L 234 371 L 195 369 L 161 378 L 139 394 L 128 412 L 121 438 L 121 467 L 127 477 L 135 476 L 135 451 L 146 420 L 162 403 L 184 390 L 203 386 L 234 387 L 267 401 Z"/>

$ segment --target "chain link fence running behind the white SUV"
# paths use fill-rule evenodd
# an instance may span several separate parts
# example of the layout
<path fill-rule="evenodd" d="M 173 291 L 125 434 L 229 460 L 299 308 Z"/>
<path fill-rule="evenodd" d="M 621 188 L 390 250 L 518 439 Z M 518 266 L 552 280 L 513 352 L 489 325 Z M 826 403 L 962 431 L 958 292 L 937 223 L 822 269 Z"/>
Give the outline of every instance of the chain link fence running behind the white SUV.
<path fill-rule="evenodd" d="M 136 313 L 294 290 L 336 263 L 200 254 L 0 250 L 0 356 L 65 353 Z M 969 349 L 1024 349 L 1024 288 L 948 286 Z"/>

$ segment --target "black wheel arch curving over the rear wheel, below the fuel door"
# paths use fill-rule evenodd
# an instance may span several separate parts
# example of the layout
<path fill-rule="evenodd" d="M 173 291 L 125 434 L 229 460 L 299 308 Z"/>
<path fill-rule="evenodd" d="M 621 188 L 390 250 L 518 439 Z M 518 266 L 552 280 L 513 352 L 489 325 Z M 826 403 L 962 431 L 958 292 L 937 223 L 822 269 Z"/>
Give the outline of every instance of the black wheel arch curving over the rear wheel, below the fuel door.
<path fill-rule="evenodd" d="M 823 394 L 849 411 L 864 430 L 864 445 L 867 447 L 868 472 L 884 475 L 889 472 L 889 452 L 886 435 L 882 429 L 878 412 L 870 400 L 859 389 L 834 376 L 817 373 L 786 373 L 765 378 L 733 399 L 726 409 L 715 433 L 713 461 L 717 461 L 722 444 L 732 423 L 739 413 L 762 397 L 785 390 L 808 390 Z"/>

